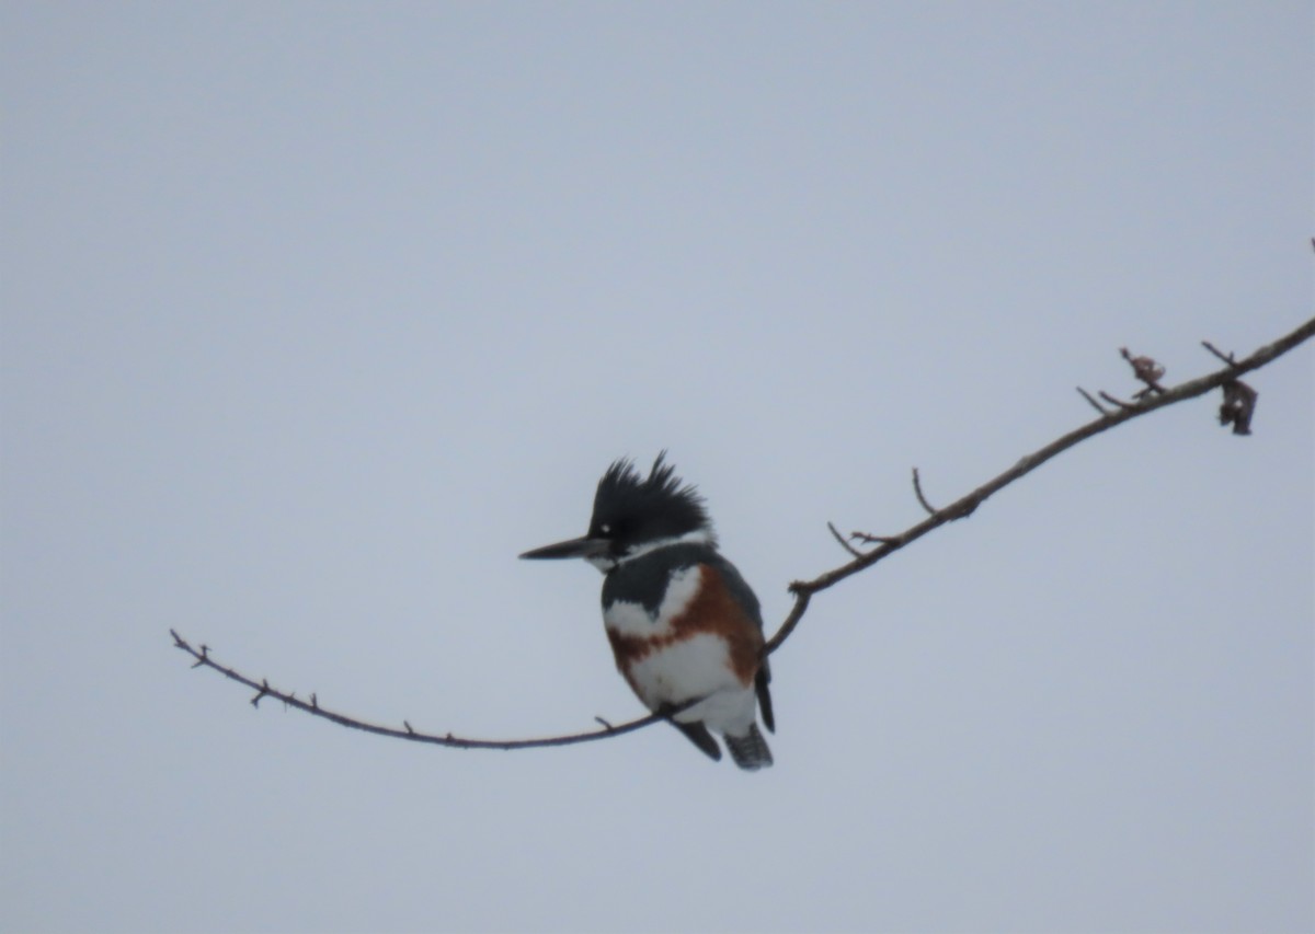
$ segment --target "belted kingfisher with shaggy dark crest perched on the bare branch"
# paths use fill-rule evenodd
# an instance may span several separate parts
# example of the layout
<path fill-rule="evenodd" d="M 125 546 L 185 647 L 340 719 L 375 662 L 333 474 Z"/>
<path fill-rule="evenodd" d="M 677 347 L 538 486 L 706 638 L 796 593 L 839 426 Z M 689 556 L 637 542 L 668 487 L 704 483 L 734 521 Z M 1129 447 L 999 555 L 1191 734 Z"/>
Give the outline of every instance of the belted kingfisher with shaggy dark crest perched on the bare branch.
<path fill-rule="evenodd" d="M 665 456 L 647 478 L 630 460 L 613 462 L 598 481 L 589 533 L 521 557 L 584 558 L 601 570 L 602 624 L 631 690 L 713 759 L 722 750 L 709 728 L 735 765 L 763 768 L 772 750 L 755 708 L 769 730 L 776 725 L 757 598 L 718 553 L 702 497 Z"/>

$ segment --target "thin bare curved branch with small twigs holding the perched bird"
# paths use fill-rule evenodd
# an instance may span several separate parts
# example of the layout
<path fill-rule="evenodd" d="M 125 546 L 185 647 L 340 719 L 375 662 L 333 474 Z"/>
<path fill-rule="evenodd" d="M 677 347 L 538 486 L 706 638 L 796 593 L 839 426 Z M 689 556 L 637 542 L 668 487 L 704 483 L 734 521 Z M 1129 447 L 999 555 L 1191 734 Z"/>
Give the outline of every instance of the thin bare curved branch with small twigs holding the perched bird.
<path fill-rule="evenodd" d="M 1165 406 L 1172 406 L 1177 402 L 1184 402 L 1186 399 L 1197 398 L 1198 395 L 1205 395 L 1211 389 L 1224 388 L 1227 393 L 1228 386 L 1244 385 L 1237 382 L 1239 376 L 1249 370 L 1264 367 L 1272 360 L 1293 349 L 1302 342 L 1310 339 L 1312 335 L 1315 335 L 1315 318 L 1307 321 L 1295 331 L 1279 338 L 1274 343 L 1261 347 L 1244 360 L 1233 360 L 1232 355 L 1224 356 L 1207 343 L 1206 344 L 1207 349 L 1210 349 L 1215 356 L 1227 363 L 1227 367 L 1222 370 L 1208 373 L 1197 380 L 1190 380 L 1172 389 L 1164 389 L 1156 382 L 1156 380 L 1160 376 L 1162 376 L 1162 373 L 1155 370 L 1153 360 L 1149 360 L 1148 357 L 1132 357 L 1131 353 L 1128 353 L 1127 351 L 1122 351 L 1123 356 L 1128 359 L 1128 361 L 1132 364 L 1135 376 L 1143 380 L 1143 382 L 1148 384 L 1147 390 L 1144 390 L 1140 397 L 1135 397 L 1137 398 L 1137 402 L 1127 403 L 1114 399 L 1114 402 L 1119 407 L 1112 411 L 1109 411 L 1105 410 L 1098 402 L 1095 402 L 1091 398 L 1091 395 L 1086 393 L 1086 390 L 1078 389 L 1078 391 L 1082 393 L 1086 401 L 1090 402 L 1095 409 L 1098 409 L 1102 412 L 1101 418 L 1095 419 L 1094 422 L 1088 422 L 1082 427 L 1074 428 L 1066 435 L 1063 435 L 1061 437 L 1057 437 L 1056 440 L 1051 441 L 1045 447 L 1024 456 L 1005 473 L 982 483 L 972 493 L 960 497 L 959 499 L 956 499 L 949 506 L 945 506 L 944 508 L 936 510 L 932 508 L 930 503 L 927 503 L 926 498 L 922 495 L 922 485 L 918 478 L 918 472 L 915 469 L 914 491 L 918 495 L 919 503 L 922 503 L 923 508 L 926 508 L 930 515 L 917 525 L 905 529 L 899 535 L 872 536 L 861 532 L 855 532 L 852 537 L 863 540 L 867 544 L 876 544 L 876 548 L 873 548 L 869 552 L 860 552 L 859 549 L 851 548 L 844 541 L 844 539 L 840 537 L 835 527 L 828 525 L 831 533 L 836 537 L 836 540 L 840 541 L 840 544 L 846 546 L 846 550 L 848 550 L 855 557 L 848 564 L 840 565 L 839 567 L 828 570 L 825 574 L 819 574 L 811 581 L 796 581 L 790 585 L 789 590 L 794 595 L 794 604 L 790 607 L 789 613 L 786 613 L 785 620 L 781 623 L 781 627 L 776 631 L 772 638 L 769 638 L 767 644 L 763 646 L 763 657 L 765 658 L 767 656 L 780 649 L 781 645 L 785 642 L 785 640 L 790 637 L 790 633 L 794 632 L 794 628 L 800 624 L 800 620 L 803 619 L 803 613 L 807 612 L 809 603 L 813 599 L 814 594 L 818 594 L 828 587 L 834 587 L 840 581 L 844 581 L 847 577 L 852 577 L 853 574 L 857 574 L 861 570 L 867 570 L 868 567 L 877 564 L 886 556 L 917 541 L 918 539 L 927 535 L 932 529 L 939 528 L 940 525 L 944 525 L 948 522 L 953 522 L 955 519 L 964 519 L 965 516 L 972 515 L 972 512 L 994 493 L 1005 489 L 1014 481 L 1026 477 L 1028 473 L 1031 473 L 1032 470 L 1035 470 L 1036 468 L 1039 468 L 1041 464 L 1047 462 L 1056 455 L 1068 451 L 1073 445 L 1085 441 L 1093 435 L 1099 435 L 1103 431 L 1109 431 L 1110 428 L 1123 424 L 1124 422 L 1130 422 L 1141 415 L 1153 412 L 1157 409 L 1164 409 Z M 1155 391 L 1148 391 L 1151 390 L 1151 384 L 1155 384 L 1153 388 Z M 1112 398 L 1112 397 L 1106 397 L 1106 398 Z M 1227 406 L 1227 398 L 1226 398 L 1226 406 Z M 1255 406 L 1255 397 L 1252 397 L 1251 399 L 1251 406 L 1252 407 Z M 1251 412 L 1247 411 L 1245 415 L 1247 420 L 1249 422 Z M 1237 434 L 1244 434 L 1244 432 L 1237 432 Z M 631 720 L 629 723 L 623 723 L 617 726 L 611 726 L 605 720 L 597 719 L 600 723 L 604 724 L 602 729 L 588 730 L 583 733 L 569 733 L 565 736 L 551 736 L 551 737 L 540 737 L 531 740 L 472 740 L 472 738 L 452 736 L 451 733 L 438 736 L 431 733 L 419 733 L 414 730 L 410 723 L 405 720 L 402 721 L 402 728 L 397 729 L 393 726 L 381 726 L 379 724 L 366 723 L 363 720 L 350 717 L 345 713 L 337 713 L 334 711 L 329 711 L 320 705 L 318 698 L 316 698 L 314 694 L 310 695 L 309 700 L 301 700 L 296 696 L 295 692 L 288 694 L 277 688 L 270 687 L 270 683 L 267 680 L 262 679 L 258 683 L 254 679 L 247 678 L 246 675 L 235 671 L 234 669 L 220 665 L 218 662 L 212 659 L 209 656 L 208 646 L 201 645 L 200 649 L 193 648 L 191 642 L 179 636 L 174 629 L 170 629 L 170 634 L 174 637 L 175 648 L 187 652 L 189 656 L 192 656 L 192 658 L 196 659 L 192 667 L 214 669 L 216 671 L 221 673 L 230 680 L 235 680 L 239 684 L 245 684 L 246 687 L 256 691 L 255 696 L 251 698 L 252 705 L 259 705 L 260 700 L 263 700 L 264 698 L 274 698 L 275 700 L 283 701 L 288 707 L 295 707 L 296 709 L 304 711 L 305 713 L 310 713 L 312 716 L 323 717 L 325 720 L 330 720 L 341 726 L 359 729 L 366 733 L 376 733 L 379 736 L 394 737 L 397 740 L 410 740 L 413 742 L 429 742 L 438 746 L 451 746 L 455 749 L 535 749 L 540 746 L 571 746 L 580 742 L 606 740 L 613 736 L 621 736 L 622 733 L 631 733 L 636 729 L 642 729 L 661 720 L 668 720 L 672 715 L 679 713 L 685 707 L 698 701 L 698 699 L 696 699 L 689 701 L 689 704 L 682 704 L 681 707 L 672 708 L 669 711 L 663 711 L 661 713 L 651 713 L 646 717 Z"/>

